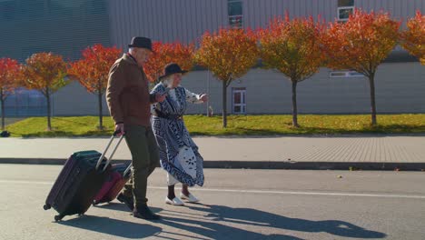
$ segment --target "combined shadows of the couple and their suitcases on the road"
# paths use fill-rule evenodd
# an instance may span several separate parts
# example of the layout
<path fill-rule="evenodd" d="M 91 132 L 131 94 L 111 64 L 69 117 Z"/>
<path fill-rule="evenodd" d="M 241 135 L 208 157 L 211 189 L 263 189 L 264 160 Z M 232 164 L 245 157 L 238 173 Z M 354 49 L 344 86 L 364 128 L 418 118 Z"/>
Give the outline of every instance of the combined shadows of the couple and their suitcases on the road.
<path fill-rule="evenodd" d="M 181 211 L 153 208 L 153 212 L 159 212 L 163 217 L 162 220 L 157 222 L 158 224 L 187 231 L 194 235 L 200 235 L 200 237 L 182 235 L 178 232 L 164 232 L 161 227 L 153 226 L 150 222 L 146 221 L 137 224 L 94 215 L 83 215 L 82 217 L 58 223 L 125 238 L 143 238 L 156 235 L 161 238 L 173 239 L 160 235 L 161 233 L 165 233 L 167 235 L 186 236 L 193 239 L 301 239 L 292 235 L 267 235 L 263 234 L 262 231 L 250 231 L 250 225 L 304 233 L 328 233 L 341 237 L 375 239 L 386 237 L 386 234 L 371 231 L 340 220 L 311 221 L 276 215 L 252 208 L 229 207 L 224 205 L 193 204 L 187 206 L 198 212 L 186 213 L 184 207 L 180 208 Z M 103 205 L 101 207 L 110 210 L 128 211 L 124 205 L 119 204 Z M 244 229 L 230 224 L 244 225 L 242 227 Z"/>

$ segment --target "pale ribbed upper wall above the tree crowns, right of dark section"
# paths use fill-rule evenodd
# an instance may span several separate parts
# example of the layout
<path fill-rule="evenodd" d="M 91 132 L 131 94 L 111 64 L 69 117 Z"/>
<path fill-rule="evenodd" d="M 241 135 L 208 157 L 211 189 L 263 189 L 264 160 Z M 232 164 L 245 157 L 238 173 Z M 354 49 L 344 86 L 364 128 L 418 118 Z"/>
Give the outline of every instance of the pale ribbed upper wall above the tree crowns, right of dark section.
<path fill-rule="evenodd" d="M 383 9 L 405 20 L 424 0 L 354 0 L 364 10 Z M 264 27 L 275 16 L 313 16 L 330 22 L 337 17 L 338 0 L 242 0 L 243 26 Z M 123 47 L 134 35 L 163 42 L 196 41 L 205 31 L 228 25 L 227 0 L 110 0 L 112 42 Z"/>

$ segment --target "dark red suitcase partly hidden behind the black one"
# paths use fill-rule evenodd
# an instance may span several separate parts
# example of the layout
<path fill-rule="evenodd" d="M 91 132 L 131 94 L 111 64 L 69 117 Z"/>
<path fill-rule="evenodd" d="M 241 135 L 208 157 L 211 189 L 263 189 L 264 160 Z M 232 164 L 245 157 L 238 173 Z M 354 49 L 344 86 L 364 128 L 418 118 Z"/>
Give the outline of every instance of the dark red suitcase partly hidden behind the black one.
<path fill-rule="evenodd" d="M 101 190 L 94 197 L 93 205 L 102 203 L 109 203 L 113 201 L 117 195 L 120 194 L 124 185 L 132 176 L 132 164 L 116 164 L 112 165 L 111 174 L 107 177 Z"/>

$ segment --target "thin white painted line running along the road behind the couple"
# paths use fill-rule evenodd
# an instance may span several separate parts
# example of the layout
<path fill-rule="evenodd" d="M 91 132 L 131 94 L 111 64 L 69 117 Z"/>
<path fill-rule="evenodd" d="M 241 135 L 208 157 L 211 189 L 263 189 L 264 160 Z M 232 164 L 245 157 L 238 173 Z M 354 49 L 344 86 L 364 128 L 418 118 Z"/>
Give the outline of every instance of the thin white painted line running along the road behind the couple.
<path fill-rule="evenodd" d="M 25 185 L 53 185 L 53 182 L 40 181 L 22 181 L 22 180 L 1 180 L 4 184 L 25 184 Z M 150 189 L 168 189 L 164 186 L 148 186 Z M 267 191 L 267 190 L 239 190 L 239 189 L 217 189 L 217 188 L 193 188 L 194 192 L 224 192 L 241 194 L 272 194 L 272 195 L 335 195 L 335 196 L 369 196 L 369 197 L 388 197 L 388 198 L 412 198 L 425 199 L 425 195 L 377 195 L 377 194 L 354 194 L 354 193 L 331 193 L 331 192 L 297 192 L 297 191 Z"/>

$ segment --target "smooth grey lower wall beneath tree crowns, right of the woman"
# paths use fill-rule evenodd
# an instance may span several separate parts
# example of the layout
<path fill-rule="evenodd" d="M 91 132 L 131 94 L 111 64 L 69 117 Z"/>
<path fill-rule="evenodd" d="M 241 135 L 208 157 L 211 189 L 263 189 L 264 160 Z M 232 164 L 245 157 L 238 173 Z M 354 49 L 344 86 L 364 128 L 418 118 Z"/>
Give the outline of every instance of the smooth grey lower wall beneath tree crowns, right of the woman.
<path fill-rule="evenodd" d="M 330 77 L 321 70 L 297 86 L 298 111 L 302 114 L 368 114 L 371 109 L 366 77 Z M 425 67 L 420 63 L 382 64 L 375 77 L 376 104 L 382 113 L 425 113 Z M 232 87 L 246 88 L 247 114 L 291 114 L 292 85 L 281 73 L 252 69 L 227 89 L 227 110 L 232 113 Z M 208 82 L 209 81 L 209 82 Z M 222 113 L 222 82 L 207 71 L 183 76 L 182 85 L 193 93 L 209 93 L 209 105 Z M 206 114 L 206 105 L 189 105 L 189 114 Z"/>

